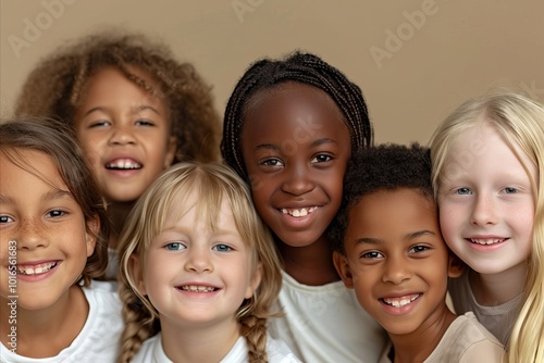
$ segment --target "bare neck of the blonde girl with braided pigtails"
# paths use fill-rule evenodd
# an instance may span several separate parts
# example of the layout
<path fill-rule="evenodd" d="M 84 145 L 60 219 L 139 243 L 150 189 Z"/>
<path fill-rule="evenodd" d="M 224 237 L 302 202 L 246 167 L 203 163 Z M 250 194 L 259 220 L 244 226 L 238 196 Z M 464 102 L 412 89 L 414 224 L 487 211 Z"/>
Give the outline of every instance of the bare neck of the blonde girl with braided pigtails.
<path fill-rule="evenodd" d="M 161 320 L 162 348 L 173 362 L 219 362 L 240 337 L 233 320 L 220 324 L 180 326 Z"/>

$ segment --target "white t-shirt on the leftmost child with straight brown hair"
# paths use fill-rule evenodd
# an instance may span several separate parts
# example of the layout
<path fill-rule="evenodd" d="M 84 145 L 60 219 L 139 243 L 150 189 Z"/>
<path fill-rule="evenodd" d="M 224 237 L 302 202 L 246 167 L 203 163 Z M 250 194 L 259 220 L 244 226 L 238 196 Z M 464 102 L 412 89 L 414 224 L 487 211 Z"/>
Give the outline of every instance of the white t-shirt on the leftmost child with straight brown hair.
<path fill-rule="evenodd" d="M 120 351 L 120 337 L 124 323 L 116 284 L 91 281 L 82 288 L 89 304 L 89 314 L 82 331 L 70 347 L 57 356 L 26 358 L 0 347 L 2 363 L 97 363 L 115 362 Z"/>

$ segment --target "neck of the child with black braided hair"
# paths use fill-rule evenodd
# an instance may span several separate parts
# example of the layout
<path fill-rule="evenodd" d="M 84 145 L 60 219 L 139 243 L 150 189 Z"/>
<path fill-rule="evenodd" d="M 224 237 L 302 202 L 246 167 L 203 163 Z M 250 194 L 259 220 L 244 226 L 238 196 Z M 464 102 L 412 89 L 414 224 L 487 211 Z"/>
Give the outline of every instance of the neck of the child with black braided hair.
<path fill-rule="evenodd" d="M 276 245 L 282 256 L 283 270 L 298 283 L 321 286 L 339 280 L 333 263 L 332 242 L 321 236 L 306 247 L 292 247 L 281 240 Z"/>

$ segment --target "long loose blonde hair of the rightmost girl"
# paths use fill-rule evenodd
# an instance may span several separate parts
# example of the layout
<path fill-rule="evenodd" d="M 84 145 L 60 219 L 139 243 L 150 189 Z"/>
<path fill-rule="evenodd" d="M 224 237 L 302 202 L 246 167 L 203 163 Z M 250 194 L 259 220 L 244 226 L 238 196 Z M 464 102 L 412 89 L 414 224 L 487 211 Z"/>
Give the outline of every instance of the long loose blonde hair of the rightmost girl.
<path fill-rule="evenodd" d="M 447 178 L 448 173 L 455 173 L 455 163 L 446 165 L 453 142 L 462 132 L 482 123 L 498 132 L 523 165 L 531 180 L 535 205 L 523 304 L 512 327 L 505 359 L 512 363 L 544 362 L 544 108 L 522 95 L 503 90 L 462 103 L 438 126 L 431 139 L 435 196 L 441 180 Z M 534 178 L 515 146 L 536 165 Z M 475 145 L 469 146 L 468 152 L 477 149 Z"/>

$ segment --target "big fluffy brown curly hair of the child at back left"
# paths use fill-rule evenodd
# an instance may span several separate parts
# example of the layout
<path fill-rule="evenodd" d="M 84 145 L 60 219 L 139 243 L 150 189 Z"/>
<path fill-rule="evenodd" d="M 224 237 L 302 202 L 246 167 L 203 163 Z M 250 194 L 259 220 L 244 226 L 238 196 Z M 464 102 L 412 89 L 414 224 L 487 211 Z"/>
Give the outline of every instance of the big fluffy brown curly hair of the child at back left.
<path fill-rule="evenodd" d="M 169 107 L 172 136 L 177 138 L 174 163 L 219 158 L 221 122 L 211 87 L 190 63 L 177 62 L 169 47 L 141 34 L 107 30 L 61 46 L 28 75 L 15 115 L 55 117 L 74 126 L 75 110 L 90 78 L 111 66 Z M 131 67 L 151 76 L 158 89 Z"/>

